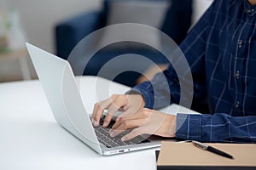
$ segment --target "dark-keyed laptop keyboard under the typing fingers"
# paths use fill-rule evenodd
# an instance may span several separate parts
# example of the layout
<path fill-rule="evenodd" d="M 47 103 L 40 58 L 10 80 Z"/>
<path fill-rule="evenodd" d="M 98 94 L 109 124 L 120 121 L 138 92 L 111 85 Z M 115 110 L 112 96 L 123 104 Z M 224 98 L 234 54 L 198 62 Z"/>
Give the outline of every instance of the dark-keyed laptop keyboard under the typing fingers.
<path fill-rule="evenodd" d="M 134 139 L 128 140 L 123 142 L 121 138 L 125 136 L 125 134 L 130 133 L 132 129 L 125 130 L 125 132 L 120 133 L 116 137 L 111 137 L 108 133 L 110 128 L 113 126 L 114 121 L 112 120 L 108 127 L 102 127 L 102 124 L 104 122 L 105 116 L 102 116 L 102 119 L 100 121 L 100 126 L 94 127 L 97 139 L 99 142 L 103 145 L 105 145 L 108 148 L 113 148 L 117 146 L 124 146 L 124 145 L 131 145 L 131 144 L 140 144 L 140 143 L 147 143 L 149 140 L 144 139 L 142 136 L 137 136 Z"/>

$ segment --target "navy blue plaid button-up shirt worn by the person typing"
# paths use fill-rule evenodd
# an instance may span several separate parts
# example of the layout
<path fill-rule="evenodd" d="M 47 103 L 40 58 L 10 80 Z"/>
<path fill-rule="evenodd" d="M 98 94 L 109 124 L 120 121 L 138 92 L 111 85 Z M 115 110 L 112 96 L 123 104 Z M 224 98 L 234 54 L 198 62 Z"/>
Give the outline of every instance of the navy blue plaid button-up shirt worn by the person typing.
<path fill-rule="evenodd" d="M 215 0 L 180 45 L 193 76 L 192 109 L 207 114 L 177 114 L 176 137 L 205 142 L 256 142 L 256 5 L 247 0 Z M 179 102 L 179 84 L 172 65 L 133 88 L 147 108 Z M 207 107 L 206 107 L 207 106 Z"/>

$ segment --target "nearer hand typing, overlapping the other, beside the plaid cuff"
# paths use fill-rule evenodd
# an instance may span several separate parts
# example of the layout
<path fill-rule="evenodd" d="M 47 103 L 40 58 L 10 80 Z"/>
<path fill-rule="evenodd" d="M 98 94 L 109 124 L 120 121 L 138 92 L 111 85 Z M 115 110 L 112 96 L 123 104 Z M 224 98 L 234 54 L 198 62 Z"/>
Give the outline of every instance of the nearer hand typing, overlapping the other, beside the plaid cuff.
<path fill-rule="evenodd" d="M 134 129 L 122 138 L 123 141 L 142 134 L 173 138 L 176 132 L 176 116 L 146 108 L 133 114 L 125 112 L 117 118 L 109 133 L 110 136 L 115 137 L 129 128 Z"/>

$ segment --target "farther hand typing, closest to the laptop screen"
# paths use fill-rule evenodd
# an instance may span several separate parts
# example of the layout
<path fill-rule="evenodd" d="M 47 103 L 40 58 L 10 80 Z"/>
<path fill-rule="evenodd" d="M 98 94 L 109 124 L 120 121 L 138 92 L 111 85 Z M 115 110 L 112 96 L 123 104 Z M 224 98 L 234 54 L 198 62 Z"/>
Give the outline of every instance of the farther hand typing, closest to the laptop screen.
<path fill-rule="evenodd" d="M 114 94 L 109 99 L 105 99 L 95 104 L 91 121 L 93 125 L 97 127 L 104 110 L 108 109 L 107 116 L 103 123 L 103 127 L 108 127 L 108 124 L 116 111 L 122 110 L 128 115 L 128 113 L 136 113 L 143 109 L 144 105 L 145 102 L 143 96 L 140 94 Z"/>

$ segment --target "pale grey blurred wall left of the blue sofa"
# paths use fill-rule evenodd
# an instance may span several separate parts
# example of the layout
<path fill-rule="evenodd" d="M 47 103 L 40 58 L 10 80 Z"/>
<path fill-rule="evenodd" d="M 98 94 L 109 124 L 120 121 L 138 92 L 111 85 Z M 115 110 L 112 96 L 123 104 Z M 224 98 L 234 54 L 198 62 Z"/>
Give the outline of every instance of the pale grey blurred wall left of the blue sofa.
<path fill-rule="evenodd" d="M 0 0 L 3 1 L 3 0 Z M 100 8 L 102 0 L 7 0 L 17 8 L 27 39 L 55 52 L 54 26 L 73 15 Z"/>

